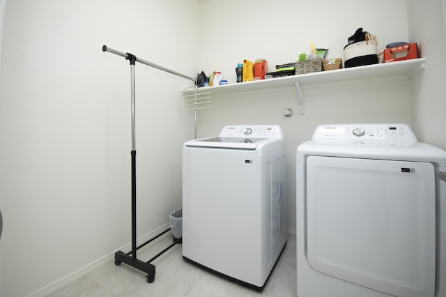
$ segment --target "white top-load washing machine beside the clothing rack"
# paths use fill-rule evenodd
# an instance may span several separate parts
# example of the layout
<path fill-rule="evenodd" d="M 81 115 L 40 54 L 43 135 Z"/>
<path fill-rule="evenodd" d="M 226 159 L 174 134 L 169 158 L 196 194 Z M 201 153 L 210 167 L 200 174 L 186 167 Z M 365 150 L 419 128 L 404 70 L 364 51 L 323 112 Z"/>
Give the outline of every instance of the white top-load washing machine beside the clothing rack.
<path fill-rule="evenodd" d="M 183 258 L 262 289 L 286 243 L 277 125 L 229 125 L 183 145 Z"/>

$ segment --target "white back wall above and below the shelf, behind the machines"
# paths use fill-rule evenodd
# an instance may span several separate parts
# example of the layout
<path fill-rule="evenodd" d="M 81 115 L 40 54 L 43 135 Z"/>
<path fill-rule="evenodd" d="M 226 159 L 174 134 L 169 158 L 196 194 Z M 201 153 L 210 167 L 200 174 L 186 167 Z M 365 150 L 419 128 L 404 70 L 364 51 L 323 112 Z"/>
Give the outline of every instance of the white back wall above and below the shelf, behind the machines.
<path fill-rule="evenodd" d="M 406 1 L 330 0 L 317 2 L 277 0 L 210 0 L 201 4 L 201 67 L 221 70 L 235 82 L 235 67 L 243 59 L 268 60 L 275 65 L 296 61 L 299 52 L 329 47 L 328 57 L 343 58 L 348 37 L 359 27 L 378 36 L 380 49 L 387 43 L 408 40 Z M 386 9 L 384 9 L 386 8 Z M 392 29 L 384 20 L 392 20 Z M 254 24 L 253 24 L 254 22 Z M 216 23 L 217 25 L 205 26 Z M 216 33 L 215 27 L 218 27 Z M 288 218 L 295 232 L 295 150 L 312 137 L 322 123 L 411 124 L 410 82 L 323 86 L 304 89 L 305 114 L 298 114 L 295 89 L 268 93 L 231 93 L 213 98 L 213 108 L 200 112 L 200 136 L 212 136 L 223 125 L 242 123 L 279 124 L 288 153 Z M 283 115 L 285 108 L 293 116 Z"/>

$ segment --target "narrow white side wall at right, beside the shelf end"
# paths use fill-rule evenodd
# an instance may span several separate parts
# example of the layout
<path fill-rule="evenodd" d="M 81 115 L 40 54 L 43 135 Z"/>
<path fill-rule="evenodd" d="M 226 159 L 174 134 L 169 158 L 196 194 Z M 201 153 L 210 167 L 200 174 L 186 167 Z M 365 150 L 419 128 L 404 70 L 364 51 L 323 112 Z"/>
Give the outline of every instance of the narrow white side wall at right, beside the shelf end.
<path fill-rule="evenodd" d="M 408 0 L 408 8 L 410 40 L 426 57 L 424 73 L 412 84 L 413 129 L 420 141 L 446 149 L 445 1 Z"/>

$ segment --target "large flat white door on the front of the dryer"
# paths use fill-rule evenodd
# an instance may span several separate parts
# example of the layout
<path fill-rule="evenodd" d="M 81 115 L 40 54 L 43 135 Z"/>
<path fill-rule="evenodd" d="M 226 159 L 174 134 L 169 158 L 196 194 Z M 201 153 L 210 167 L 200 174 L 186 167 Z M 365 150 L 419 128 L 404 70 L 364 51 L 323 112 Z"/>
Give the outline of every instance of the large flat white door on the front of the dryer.
<path fill-rule="evenodd" d="M 434 168 L 307 158 L 307 257 L 316 271 L 394 296 L 433 296 Z"/>

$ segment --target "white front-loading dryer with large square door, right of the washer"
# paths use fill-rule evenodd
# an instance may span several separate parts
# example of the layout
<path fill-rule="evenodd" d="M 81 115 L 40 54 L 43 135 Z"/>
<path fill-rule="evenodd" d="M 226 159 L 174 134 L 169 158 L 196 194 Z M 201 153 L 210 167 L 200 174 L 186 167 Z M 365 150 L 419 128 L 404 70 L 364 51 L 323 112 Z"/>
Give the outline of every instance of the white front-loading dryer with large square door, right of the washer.
<path fill-rule="evenodd" d="M 446 152 L 403 124 L 319 125 L 297 149 L 297 293 L 446 296 Z"/>

